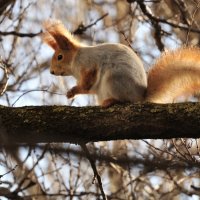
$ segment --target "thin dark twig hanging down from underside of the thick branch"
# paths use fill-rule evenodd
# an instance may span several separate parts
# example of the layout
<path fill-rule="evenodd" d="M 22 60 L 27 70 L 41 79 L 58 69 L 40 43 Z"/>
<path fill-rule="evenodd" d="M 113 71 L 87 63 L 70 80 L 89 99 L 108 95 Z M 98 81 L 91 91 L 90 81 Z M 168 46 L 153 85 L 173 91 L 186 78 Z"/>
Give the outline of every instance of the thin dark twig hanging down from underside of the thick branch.
<path fill-rule="evenodd" d="M 90 152 L 89 152 L 86 144 L 85 143 L 81 143 L 80 146 L 81 146 L 82 150 L 85 152 L 85 155 L 86 155 L 87 159 L 89 160 L 90 165 L 92 167 L 92 170 L 94 172 L 94 179 L 93 179 L 93 181 L 95 180 L 95 178 L 97 178 L 98 185 L 99 185 L 99 188 L 100 188 L 103 200 L 107 200 L 107 197 L 106 197 L 105 192 L 103 190 L 103 185 L 102 185 L 102 182 L 101 182 L 101 177 L 100 177 L 100 175 L 99 175 L 99 173 L 97 171 L 96 165 L 95 165 L 95 161 L 92 158 L 92 156 L 90 155 Z"/>

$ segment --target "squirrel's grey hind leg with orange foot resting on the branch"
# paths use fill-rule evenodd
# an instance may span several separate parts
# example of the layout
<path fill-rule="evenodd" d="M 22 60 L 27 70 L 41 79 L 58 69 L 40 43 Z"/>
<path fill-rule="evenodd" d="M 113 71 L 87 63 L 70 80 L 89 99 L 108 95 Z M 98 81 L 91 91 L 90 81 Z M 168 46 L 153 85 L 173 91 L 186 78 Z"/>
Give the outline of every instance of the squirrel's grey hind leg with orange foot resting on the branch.
<path fill-rule="evenodd" d="M 109 107 L 143 101 L 145 91 L 145 80 L 140 82 L 131 70 L 126 72 L 117 68 L 115 71 L 106 71 L 97 90 L 97 98 L 102 107 Z"/>

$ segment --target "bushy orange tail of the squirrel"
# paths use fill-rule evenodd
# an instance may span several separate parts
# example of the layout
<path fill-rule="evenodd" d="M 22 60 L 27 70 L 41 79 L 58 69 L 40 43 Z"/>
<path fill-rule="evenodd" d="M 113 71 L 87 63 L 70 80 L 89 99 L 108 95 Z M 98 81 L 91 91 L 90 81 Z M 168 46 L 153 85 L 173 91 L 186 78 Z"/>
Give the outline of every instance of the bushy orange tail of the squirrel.
<path fill-rule="evenodd" d="M 148 73 L 146 100 L 173 103 L 200 92 L 200 49 L 180 48 L 163 53 Z"/>

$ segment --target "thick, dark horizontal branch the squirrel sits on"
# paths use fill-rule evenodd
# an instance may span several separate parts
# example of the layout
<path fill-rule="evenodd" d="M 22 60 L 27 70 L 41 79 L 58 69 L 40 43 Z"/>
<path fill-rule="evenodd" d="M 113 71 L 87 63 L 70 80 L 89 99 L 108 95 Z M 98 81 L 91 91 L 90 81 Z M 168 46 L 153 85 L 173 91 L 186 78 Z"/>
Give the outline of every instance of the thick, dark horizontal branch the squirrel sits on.
<path fill-rule="evenodd" d="M 0 106 L 0 144 L 200 137 L 200 103 Z"/>

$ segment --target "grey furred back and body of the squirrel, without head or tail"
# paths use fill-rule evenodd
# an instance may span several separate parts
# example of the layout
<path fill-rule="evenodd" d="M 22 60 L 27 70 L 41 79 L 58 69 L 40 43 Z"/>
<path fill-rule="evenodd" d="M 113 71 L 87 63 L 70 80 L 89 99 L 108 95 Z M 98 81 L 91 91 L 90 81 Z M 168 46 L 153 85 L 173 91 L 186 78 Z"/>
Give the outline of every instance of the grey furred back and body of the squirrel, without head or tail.
<path fill-rule="evenodd" d="M 114 98 L 138 102 L 144 99 L 147 88 L 146 73 L 139 57 L 122 44 L 102 44 L 81 47 L 74 59 L 73 75 L 79 79 L 80 67 L 97 67 L 97 80 L 91 90 L 98 102 Z"/>

